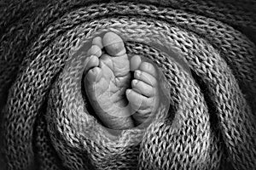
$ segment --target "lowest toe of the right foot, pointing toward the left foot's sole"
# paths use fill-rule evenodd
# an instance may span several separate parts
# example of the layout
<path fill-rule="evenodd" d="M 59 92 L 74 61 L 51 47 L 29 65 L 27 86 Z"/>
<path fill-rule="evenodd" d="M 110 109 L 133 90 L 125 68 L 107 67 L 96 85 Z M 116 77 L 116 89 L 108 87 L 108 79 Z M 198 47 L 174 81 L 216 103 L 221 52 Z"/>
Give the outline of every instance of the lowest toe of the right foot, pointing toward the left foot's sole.
<path fill-rule="evenodd" d="M 143 96 L 142 94 L 138 94 L 135 90 L 133 89 L 127 89 L 125 91 L 126 98 L 132 105 L 132 108 L 134 110 L 138 109 L 146 109 L 150 107 L 152 104 L 152 99 L 148 99 L 147 97 Z"/>

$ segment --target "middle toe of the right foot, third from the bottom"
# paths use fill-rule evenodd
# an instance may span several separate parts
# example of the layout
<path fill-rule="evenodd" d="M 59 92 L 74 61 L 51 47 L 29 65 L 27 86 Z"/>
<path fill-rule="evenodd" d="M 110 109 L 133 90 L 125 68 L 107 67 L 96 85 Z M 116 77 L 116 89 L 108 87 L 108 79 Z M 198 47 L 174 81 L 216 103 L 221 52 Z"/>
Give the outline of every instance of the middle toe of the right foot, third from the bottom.
<path fill-rule="evenodd" d="M 148 72 L 137 70 L 134 73 L 134 77 L 138 80 L 141 80 L 143 82 L 148 83 L 150 86 L 156 87 L 157 86 L 157 80 L 155 77 L 153 77 Z"/>

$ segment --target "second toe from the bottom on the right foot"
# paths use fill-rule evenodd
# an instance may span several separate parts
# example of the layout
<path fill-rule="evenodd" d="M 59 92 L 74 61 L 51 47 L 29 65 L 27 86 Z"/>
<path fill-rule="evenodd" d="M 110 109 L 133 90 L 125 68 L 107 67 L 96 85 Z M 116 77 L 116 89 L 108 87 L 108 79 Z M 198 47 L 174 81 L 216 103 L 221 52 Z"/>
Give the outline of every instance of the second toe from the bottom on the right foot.
<path fill-rule="evenodd" d="M 148 83 L 145 83 L 137 79 L 132 80 L 131 87 L 133 90 L 137 91 L 137 93 L 142 94 L 146 97 L 153 97 L 154 95 L 156 95 L 155 88 L 148 85 Z"/>

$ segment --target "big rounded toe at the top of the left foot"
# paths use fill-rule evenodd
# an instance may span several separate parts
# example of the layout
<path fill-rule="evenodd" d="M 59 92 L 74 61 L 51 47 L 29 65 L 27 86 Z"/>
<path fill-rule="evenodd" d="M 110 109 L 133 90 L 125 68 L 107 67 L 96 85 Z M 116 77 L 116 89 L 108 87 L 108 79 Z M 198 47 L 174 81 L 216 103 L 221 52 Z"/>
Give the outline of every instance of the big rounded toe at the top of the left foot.
<path fill-rule="evenodd" d="M 119 56 L 126 53 L 122 38 L 113 32 L 108 32 L 104 35 L 102 44 L 106 48 L 107 53 L 112 56 Z"/>

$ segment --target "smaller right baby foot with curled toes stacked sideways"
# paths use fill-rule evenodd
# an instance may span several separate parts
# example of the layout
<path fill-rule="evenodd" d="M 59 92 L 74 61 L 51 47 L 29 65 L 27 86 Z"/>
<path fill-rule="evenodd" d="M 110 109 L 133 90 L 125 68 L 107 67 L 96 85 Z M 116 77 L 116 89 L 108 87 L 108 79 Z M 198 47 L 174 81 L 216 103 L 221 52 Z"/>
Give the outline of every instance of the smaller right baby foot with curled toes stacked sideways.
<path fill-rule="evenodd" d="M 130 102 L 132 115 L 136 124 L 145 122 L 151 114 L 154 114 L 160 104 L 159 84 L 157 71 L 149 62 L 142 62 L 139 55 L 135 55 L 130 61 L 134 79 L 131 89 L 126 90 L 126 97 Z"/>

